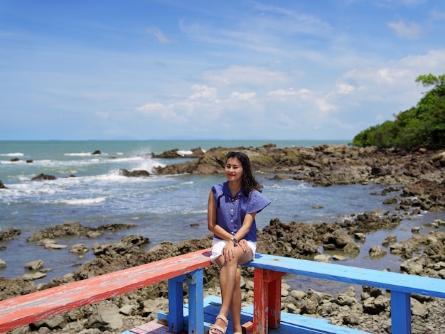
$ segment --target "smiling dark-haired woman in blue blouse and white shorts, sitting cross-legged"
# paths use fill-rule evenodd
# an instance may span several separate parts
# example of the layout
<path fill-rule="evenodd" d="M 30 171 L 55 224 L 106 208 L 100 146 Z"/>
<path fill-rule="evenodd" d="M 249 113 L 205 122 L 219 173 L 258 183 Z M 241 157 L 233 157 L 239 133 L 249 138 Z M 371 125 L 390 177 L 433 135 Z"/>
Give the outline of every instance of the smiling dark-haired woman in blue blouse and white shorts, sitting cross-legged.
<path fill-rule="evenodd" d="M 227 182 L 213 185 L 208 197 L 208 230 L 213 232 L 210 260 L 220 267 L 222 305 L 210 334 L 225 334 L 230 311 L 233 332 L 241 328 L 241 271 L 238 266 L 252 261 L 257 248 L 255 215 L 269 205 L 261 185 L 252 176 L 245 153 L 227 153 Z"/>

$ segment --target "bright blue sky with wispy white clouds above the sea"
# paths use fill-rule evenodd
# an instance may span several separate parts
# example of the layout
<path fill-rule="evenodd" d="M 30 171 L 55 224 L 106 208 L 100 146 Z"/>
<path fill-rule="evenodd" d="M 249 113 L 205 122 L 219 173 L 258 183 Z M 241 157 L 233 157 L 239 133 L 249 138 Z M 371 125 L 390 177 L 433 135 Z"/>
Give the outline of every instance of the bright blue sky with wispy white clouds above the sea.
<path fill-rule="evenodd" d="M 444 36 L 442 0 L 0 0 L 0 140 L 352 140 Z"/>

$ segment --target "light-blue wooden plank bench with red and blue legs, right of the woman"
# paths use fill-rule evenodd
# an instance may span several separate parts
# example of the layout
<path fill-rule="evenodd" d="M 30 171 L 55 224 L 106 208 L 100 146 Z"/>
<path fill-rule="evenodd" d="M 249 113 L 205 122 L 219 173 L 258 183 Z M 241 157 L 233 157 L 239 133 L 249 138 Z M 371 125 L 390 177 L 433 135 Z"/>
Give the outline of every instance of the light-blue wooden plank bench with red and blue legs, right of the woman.
<path fill-rule="evenodd" d="M 255 334 L 267 333 L 268 328 L 279 328 L 281 309 L 281 282 L 283 274 L 297 274 L 318 279 L 341 281 L 361 286 L 374 286 L 391 292 L 391 333 L 411 333 L 411 293 L 445 298 L 445 281 L 431 277 L 378 271 L 372 269 L 314 262 L 288 257 L 257 254 L 254 261 L 245 264 L 254 268 L 254 313 L 250 330 Z M 298 333 L 342 333 L 313 332 Z"/>

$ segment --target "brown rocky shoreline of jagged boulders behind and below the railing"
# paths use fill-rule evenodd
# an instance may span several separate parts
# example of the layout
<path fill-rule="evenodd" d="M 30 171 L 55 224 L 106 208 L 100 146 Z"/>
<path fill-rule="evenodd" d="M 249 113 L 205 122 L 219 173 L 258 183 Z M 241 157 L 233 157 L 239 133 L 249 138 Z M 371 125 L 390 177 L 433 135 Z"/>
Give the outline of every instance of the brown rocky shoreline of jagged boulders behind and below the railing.
<path fill-rule="evenodd" d="M 157 174 L 221 173 L 225 154 L 230 149 L 215 148 L 203 152 L 193 149 L 191 161 L 163 168 Z M 389 202 L 397 205 L 396 212 L 363 212 L 342 222 L 306 224 L 304 222 L 283 223 L 271 220 L 269 226 L 259 231 L 258 252 L 286 257 L 313 259 L 331 262 L 343 259 L 348 254 L 360 252 L 369 232 L 397 226 L 404 217 L 422 210 L 442 212 L 445 209 L 445 151 L 415 152 L 378 150 L 375 148 L 350 148 L 348 146 L 322 145 L 314 148 L 277 149 L 274 144 L 259 148 L 237 148 L 250 156 L 252 168 L 257 173 L 274 173 L 274 178 L 294 178 L 317 186 L 353 183 L 376 183 L 384 185 L 385 193 L 394 193 Z M 163 153 L 163 158 L 175 158 L 176 152 Z M 370 250 L 370 257 L 384 256 L 385 252 L 397 254 L 404 261 L 400 272 L 445 279 L 445 222 L 435 220 L 436 227 L 428 235 L 419 235 L 412 230 L 412 237 L 397 242 L 388 235 L 382 245 Z M 75 222 L 50 227 L 28 238 L 28 242 L 40 242 L 57 247 L 54 238 L 88 235 L 94 237 L 102 230 L 120 230 L 128 225 L 104 225 L 98 229 L 83 227 Z M 0 232 L 0 242 L 14 238 L 19 230 Z M 107 272 L 125 269 L 139 264 L 154 262 L 198 249 L 210 247 L 210 235 L 203 239 L 172 244 L 163 242 L 142 252 L 141 247 L 148 239 L 129 234 L 117 244 L 95 244 L 92 252 L 95 259 L 77 271 L 53 279 L 48 284 L 35 284 L 33 277 L 16 279 L 0 278 L 0 299 L 31 293 L 70 281 Z M 82 244 L 72 247 L 70 252 L 85 251 Z M 331 259 L 319 249 L 336 250 Z M 29 264 L 33 274 L 42 273 L 41 264 Z M 252 270 L 243 269 L 243 298 L 252 302 Z M 218 269 L 205 269 L 205 293 L 218 295 Z M 134 325 L 145 323 L 156 317 L 156 312 L 167 309 L 166 283 L 126 293 L 108 301 L 85 306 L 75 311 L 42 320 L 30 326 L 18 328 L 11 333 L 121 333 Z M 357 292 L 353 287 L 331 296 L 309 289 L 291 291 L 282 286 L 282 309 L 291 313 L 307 314 L 328 318 L 331 323 L 367 330 L 371 333 L 390 333 L 390 299 L 385 291 L 363 287 Z M 445 301 L 425 296 L 412 296 L 412 333 L 445 333 Z"/>

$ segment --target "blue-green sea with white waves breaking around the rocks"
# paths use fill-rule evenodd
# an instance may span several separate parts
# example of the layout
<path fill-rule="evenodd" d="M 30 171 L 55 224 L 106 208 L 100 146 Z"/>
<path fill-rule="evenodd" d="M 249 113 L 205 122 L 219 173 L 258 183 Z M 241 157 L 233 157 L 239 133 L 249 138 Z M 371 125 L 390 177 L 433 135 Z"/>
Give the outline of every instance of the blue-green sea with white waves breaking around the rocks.
<path fill-rule="evenodd" d="M 95 256 L 92 252 L 79 256 L 69 252 L 73 244 L 92 247 L 95 242 L 116 243 L 127 235 L 149 238 L 146 250 L 163 241 L 173 243 L 199 239 L 209 235 L 207 200 L 211 185 L 225 181 L 220 175 L 156 176 L 156 166 L 189 161 L 191 150 L 206 151 L 215 147 L 259 147 L 275 144 L 278 148 L 311 147 L 321 144 L 348 144 L 348 141 L 0 141 L 0 180 L 7 189 L 0 189 L 0 231 L 15 227 L 21 235 L 0 242 L 0 259 L 6 267 L 0 276 L 15 278 L 27 274 L 28 262 L 43 260 L 51 269 L 47 276 L 36 280 L 45 283 L 78 269 Z M 152 153 L 176 150 L 181 158 L 152 158 Z M 100 151 L 100 154 L 92 154 Z M 119 173 L 149 171 L 149 177 L 131 178 Z M 33 181 L 39 174 L 55 176 L 55 180 Z M 257 215 L 257 227 L 262 230 L 274 218 L 281 222 L 336 222 L 350 219 L 365 211 L 394 211 L 395 205 L 382 202 L 394 193 L 380 195 L 383 188 L 375 184 L 333 185 L 316 187 L 294 180 L 276 180 L 269 173 L 255 173 L 264 185 L 264 195 L 271 205 Z M 376 195 L 377 194 L 377 195 Z M 369 249 L 382 245 L 387 235 L 399 241 L 412 237 L 412 227 L 428 233 L 431 222 L 445 220 L 445 214 L 422 212 L 407 217 L 392 230 L 380 230 L 367 235 L 360 244 L 360 254 L 348 257 L 341 264 L 371 269 L 399 271 L 402 259 L 390 254 L 378 261 L 369 258 Z M 56 242 L 68 247 L 45 249 L 28 237 L 38 230 L 65 222 L 79 222 L 86 227 L 107 224 L 134 225 L 130 230 L 105 233 L 97 239 L 65 237 Z M 439 227 L 441 228 L 441 227 Z M 320 249 L 323 252 L 323 249 Z M 295 289 L 305 289 L 304 278 L 290 277 Z M 323 290 L 326 281 L 313 282 L 312 288 Z M 315 286 L 313 286 L 315 284 Z"/>

